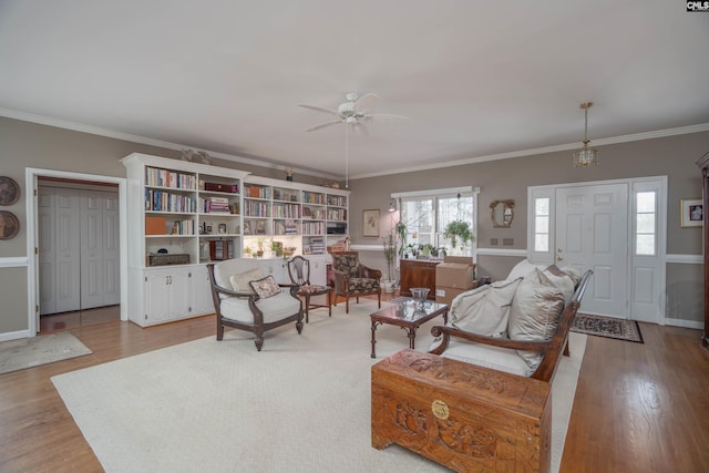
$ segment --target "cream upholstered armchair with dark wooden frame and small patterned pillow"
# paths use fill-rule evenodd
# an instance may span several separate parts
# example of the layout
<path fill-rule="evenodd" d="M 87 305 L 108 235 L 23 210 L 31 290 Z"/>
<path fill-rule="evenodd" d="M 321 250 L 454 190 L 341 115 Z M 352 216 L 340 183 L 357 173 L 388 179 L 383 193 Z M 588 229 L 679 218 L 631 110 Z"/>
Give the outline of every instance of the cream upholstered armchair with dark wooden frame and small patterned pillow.
<path fill-rule="evenodd" d="M 248 330 L 256 336 L 256 349 L 261 351 L 264 332 L 296 322 L 302 331 L 302 302 L 297 285 L 276 284 L 264 277 L 257 260 L 227 259 L 207 265 L 212 298 L 217 315 L 217 340 L 224 338 L 224 327 Z"/>

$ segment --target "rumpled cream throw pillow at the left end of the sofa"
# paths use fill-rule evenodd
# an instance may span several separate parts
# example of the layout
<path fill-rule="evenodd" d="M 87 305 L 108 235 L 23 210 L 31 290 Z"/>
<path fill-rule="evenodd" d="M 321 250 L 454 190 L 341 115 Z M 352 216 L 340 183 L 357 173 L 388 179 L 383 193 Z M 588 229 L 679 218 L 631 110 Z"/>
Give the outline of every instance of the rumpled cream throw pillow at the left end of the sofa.
<path fill-rule="evenodd" d="M 485 337 L 503 337 L 521 280 L 497 281 L 461 294 L 451 305 L 451 325 Z"/>

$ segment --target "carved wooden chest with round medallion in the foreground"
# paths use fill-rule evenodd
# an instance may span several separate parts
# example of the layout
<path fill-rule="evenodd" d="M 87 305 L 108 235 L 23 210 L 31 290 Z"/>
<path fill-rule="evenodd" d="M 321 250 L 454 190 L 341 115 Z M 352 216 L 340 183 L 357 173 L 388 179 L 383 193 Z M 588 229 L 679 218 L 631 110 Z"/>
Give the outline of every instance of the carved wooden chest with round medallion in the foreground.
<path fill-rule="evenodd" d="M 402 350 L 372 366 L 372 446 L 398 443 L 458 472 L 547 472 L 546 382 Z"/>

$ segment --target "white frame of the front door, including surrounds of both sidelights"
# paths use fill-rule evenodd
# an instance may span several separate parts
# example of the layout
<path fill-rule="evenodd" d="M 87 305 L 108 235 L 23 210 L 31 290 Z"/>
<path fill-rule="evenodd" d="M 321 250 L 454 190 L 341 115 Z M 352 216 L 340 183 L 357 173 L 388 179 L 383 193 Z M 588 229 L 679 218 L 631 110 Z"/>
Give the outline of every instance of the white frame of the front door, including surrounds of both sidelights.
<path fill-rule="evenodd" d="M 596 185 L 606 185 L 606 184 L 626 184 L 628 186 L 628 248 L 631 249 L 633 238 L 635 236 L 635 193 L 638 189 L 647 189 L 647 184 L 650 184 L 654 189 L 657 192 L 657 280 L 655 281 L 656 295 L 658 296 L 657 304 L 655 307 L 657 308 L 656 317 L 657 323 L 665 325 L 666 309 L 664 307 L 659 307 L 660 297 L 666 290 L 666 274 L 667 274 L 667 176 L 648 176 L 648 177 L 630 177 L 627 179 L 609 179 L 609 181 L 590 181 L 590 182 L 578 182 L 578 183 L 566 183 L 566 184 L 554 184 L 546 186 L 531 186 L 527 187 L 527 258 L 533 263 L 538 264 L 554 264 L 554 251 L 553 248 L 556 248 L 555 241 L 555 214 L 556 214 L 556 202 L 555 195 L 557 188 L 564 187 L 578 187 L 578 186 L 596 186 Z M 534 246 L 535 241 L 535 208 L 534 208 L 534 198 L 538 197 L 547 197 L 551 200 L 551 216 L 549 216 L 549 245 L 546 251 L 537 250 Z M 635 255 L 631 251 L 628 253 L 628 258 L 626 261 L 626 280 L 628 285 L 626 286 L 626 300 L 627 300 L 627 318 L 635 319 L 635 307 L 634 307 L 634 257 Z"/>

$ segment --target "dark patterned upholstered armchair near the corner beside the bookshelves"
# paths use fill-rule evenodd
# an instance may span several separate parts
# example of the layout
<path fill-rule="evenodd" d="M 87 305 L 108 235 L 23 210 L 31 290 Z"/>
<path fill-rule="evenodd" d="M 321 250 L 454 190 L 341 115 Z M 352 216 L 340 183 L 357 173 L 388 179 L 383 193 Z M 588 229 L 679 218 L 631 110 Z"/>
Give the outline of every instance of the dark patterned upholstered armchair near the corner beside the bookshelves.
<path fill-rule="evenodd" d="M 345 312 L 350 312 L 350 297 L 359 304 L 360 296 L 377 295 L 381 308 L 381 271 L 368 268 L 359 263 L 357 251 L 332 254 L 332 273 L 335 275 L 335 305 L 337 296 L 345 297 Z"/>

